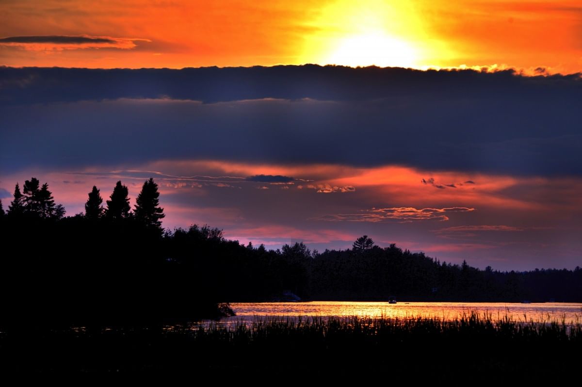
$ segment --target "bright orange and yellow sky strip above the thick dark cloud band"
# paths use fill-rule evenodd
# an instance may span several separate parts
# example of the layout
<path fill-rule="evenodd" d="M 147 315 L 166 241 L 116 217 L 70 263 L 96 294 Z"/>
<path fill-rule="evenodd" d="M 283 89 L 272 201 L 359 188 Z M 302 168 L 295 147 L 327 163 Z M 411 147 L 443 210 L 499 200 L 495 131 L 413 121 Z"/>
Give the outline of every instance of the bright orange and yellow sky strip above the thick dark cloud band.
<path fill-rule="evenodd" d="M 0 61 L 81 68 L 466 65 L 574 73 L 582 67 L 581 15 L 577 0 L 4 0 Z"/>

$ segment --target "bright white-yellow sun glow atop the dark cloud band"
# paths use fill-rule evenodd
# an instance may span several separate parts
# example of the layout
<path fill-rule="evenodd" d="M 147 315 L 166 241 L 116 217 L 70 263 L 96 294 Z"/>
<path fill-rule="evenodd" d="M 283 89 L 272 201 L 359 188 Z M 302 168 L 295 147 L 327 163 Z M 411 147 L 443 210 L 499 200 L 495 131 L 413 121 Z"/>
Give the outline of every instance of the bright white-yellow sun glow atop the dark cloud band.
<path fill-rule="evenodd" d="M 345 66 L 418 68 L 427 37 L 417 13 L 400 2 L 337 1 L 322 8 L 307 39 L 304 58 Z"/>

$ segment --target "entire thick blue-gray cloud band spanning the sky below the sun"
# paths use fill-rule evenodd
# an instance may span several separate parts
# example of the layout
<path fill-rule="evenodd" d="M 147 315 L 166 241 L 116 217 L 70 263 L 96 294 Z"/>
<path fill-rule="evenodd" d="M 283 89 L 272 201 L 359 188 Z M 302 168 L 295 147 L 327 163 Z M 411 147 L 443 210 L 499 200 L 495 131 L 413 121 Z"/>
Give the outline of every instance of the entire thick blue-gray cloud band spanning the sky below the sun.
<path fill-rule="evenodd" d="M 0 68 L 0 172 L 221 159 L 580 176 L 580 101 L 577 74 Z"/>

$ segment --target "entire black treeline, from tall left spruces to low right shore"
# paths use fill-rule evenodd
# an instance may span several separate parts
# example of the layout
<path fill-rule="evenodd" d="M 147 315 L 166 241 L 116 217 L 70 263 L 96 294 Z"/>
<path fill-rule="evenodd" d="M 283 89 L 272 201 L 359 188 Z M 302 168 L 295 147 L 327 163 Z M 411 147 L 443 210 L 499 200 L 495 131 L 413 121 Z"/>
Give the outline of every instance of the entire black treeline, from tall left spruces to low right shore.
<path fill-rule="evenodd" d="M 33 178 L 23 192 L 16 185 L 8 212 L 0 210 L 0 290 L 10 312 L 4 321 L 208 317 L 220 314 L 220 302 L 276 300 L 288 292 L 305 300 L 582 301 L 578 267 L 480 270 L 395 244 L 378 247 L 365 236 L 351 249 L 318 253 L 303 243 L 243 246 L 208 226 L 171 232 L 161 227 L 164 210 L 152 179 L 133 211 L 121 182 L 105 206 L 93 187 L 85 210 L 64 216 L 48 184 Z"/>

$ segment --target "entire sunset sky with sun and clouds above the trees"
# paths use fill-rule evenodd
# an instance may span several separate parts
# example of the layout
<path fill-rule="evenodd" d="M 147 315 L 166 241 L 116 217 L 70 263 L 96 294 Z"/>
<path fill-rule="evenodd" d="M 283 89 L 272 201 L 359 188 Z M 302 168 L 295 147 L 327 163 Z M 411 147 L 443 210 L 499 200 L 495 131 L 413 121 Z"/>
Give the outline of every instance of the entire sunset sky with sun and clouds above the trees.
<path fill-rule="evenodd" d="M 242 68 L 306 63 L 409 69 Z M 582 266 L 580 1 L 3 0 L 0 65 L 5 210 L 154 177 L 170 229 Z"/>

